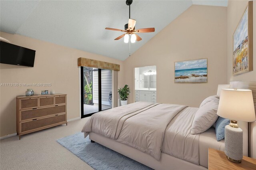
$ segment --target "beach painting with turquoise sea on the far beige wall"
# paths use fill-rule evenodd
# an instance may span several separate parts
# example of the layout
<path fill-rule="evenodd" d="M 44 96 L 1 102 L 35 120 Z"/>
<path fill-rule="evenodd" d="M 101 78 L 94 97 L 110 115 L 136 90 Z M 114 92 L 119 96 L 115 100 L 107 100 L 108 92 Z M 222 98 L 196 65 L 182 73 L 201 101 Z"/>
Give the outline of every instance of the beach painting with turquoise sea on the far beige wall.
<path fill-rule="evenodd" d="M 174 62 L 174 83 L 207 83 L 207 58 Z"/>

